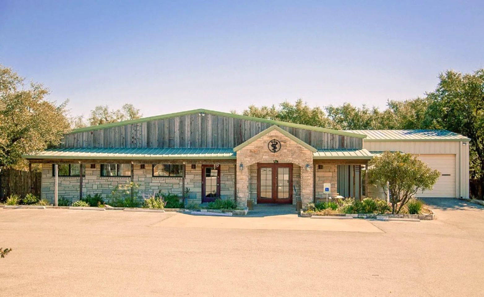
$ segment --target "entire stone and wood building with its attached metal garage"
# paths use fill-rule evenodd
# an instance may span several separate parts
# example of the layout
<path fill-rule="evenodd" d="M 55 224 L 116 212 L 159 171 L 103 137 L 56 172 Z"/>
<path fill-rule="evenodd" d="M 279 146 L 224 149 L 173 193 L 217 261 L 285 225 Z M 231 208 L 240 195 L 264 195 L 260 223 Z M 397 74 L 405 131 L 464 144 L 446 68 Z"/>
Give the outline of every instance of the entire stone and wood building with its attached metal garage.
<path fill-rule="evenodd" d="M 304 205 L 325 192 L 381 196 L 361 172 L 384 150 L 420 153 L 441 170 L 421 196 L 468 197 L 468 141 L 448 131 L 338 131 L 197 109 L 76 129 L 58 148 L 24 157 L 43 164 L 42 198 L 51 200 L 58 164 L 59 197 L 73 201 L 133 181 L 140 194 L 171 192 L 194 203 Z"/>

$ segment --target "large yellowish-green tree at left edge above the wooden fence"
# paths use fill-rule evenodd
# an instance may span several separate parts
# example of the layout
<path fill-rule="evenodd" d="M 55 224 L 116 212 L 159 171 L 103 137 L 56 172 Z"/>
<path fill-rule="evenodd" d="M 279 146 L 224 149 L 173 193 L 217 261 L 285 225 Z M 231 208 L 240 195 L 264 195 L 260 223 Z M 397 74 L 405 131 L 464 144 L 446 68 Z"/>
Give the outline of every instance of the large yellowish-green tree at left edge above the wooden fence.
<path fill-rule="evenodd" d="M 42 84 L 30 83 L 0 64 L 0 173 L 21 162 L 22 154 L 57 145 L 70 130 L 66 105 L 45 99 Z"/>

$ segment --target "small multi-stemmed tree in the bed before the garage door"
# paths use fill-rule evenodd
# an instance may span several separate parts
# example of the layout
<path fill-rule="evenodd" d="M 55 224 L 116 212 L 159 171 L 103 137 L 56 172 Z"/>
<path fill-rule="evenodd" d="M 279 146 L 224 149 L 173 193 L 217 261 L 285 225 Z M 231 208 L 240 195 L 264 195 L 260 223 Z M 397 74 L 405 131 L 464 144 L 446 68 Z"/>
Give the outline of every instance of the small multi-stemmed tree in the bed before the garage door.
<path fill-rule="evenodd" d="M 393 214 L 399 213 L 418 191 L 431 190 L 440 177 L 438 170 L 432 170 L 417 157 L 386 151 L 368 163 L 368 181 L 390 194 Z"/>

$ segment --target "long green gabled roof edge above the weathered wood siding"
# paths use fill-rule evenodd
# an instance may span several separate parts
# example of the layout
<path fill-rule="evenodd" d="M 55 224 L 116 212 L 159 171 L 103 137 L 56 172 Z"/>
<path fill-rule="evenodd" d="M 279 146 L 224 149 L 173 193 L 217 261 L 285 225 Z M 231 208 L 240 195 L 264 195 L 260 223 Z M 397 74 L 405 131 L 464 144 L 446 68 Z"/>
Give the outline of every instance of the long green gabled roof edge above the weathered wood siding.
<path fill-rule="evenodd" d="M 308 125 L 295 124 L 295 123 L 283 122 L 283 121 L 272 120 L 272 119 L 260 119 L 260 118 L 255 118 L 255 117 L 247 117 L 247 116 L 242 116 L 242 115 L 237 115 L 237 114 L 232 114 L 232 113 L 227 113 L 227 112 L 208 110 L 208 109 L 202 109 L 202 108 L 187 110 L 187 111 L 182 111 L 182 112 L 175 112 L 175 113 L 171 113 L 171 114 L 148 117 L 148 118 L 124 120 L 124 121 L 121 121 L 121 122 L 115 122 L 115 123 L 109 123 L 109 124 L 104 124 L 104 125 L 97 125 L 97 126 L 79 128 L 79 129 L 74 129 L 70 134 L 99 130 L 99 129 L 106 129 L 106 128 L 112 128 L 112 127 L 119 127 L 119 126 L 142 123 L 142 122 L 147 122 L 147 121 L 152 121 L 152 120 L 168 119 L 168 118 L 186 116 L 186 115 L 197 114 L 197 113 L 206 113 L 206 114 L 211 114 L 211 115 L 215 115 L 215 116 L 229 117 L 229 118 L 234 118 L 234 119 L 253 120 L 253 121 L 258 121 L 258 122 L 261 122 L 261 123 L 281 125 L 281 126 L 287 126 L 287 127 L 291 127 L 291 128 L 307 129 L 307 130 L 311 130 L 311 131 L 325 132 L 325 133 L 351 136 L 351 137 L 358 137 L 358 138 L 365 138 L 366 137 L 363 134 L 357 134 L 357 133 L 352 133 L 352 132 L 347 132 L 347 131 L 333 130 L 333 129 L 321 128 L 321 127 L 313 127 L 313 126 L 308 126 Z"/>

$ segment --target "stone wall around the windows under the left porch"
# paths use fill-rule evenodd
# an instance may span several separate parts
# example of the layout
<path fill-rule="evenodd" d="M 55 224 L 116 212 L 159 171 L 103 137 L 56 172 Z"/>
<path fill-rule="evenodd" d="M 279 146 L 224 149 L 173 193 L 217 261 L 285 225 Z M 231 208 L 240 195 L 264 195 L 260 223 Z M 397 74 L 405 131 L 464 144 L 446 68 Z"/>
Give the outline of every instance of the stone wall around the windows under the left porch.
<path fill-rule="evenodd" d="M 220 195 L 223 199 L 234 198 L 234 165 L 220 165 Z M 192 169 L 191 164 L 186 165 L 185 188 L 190 189 L 189 202 L 201 203 L 202 191 L 202 167 L 197 164 L 196 169 Z M 54 180 L 52 176 L 52 164 L 42 165 L 42 198 L 54 199 Z M 101 193 L 104 198 L 111 193 L 111 190 L 119 184 L 129 182 L 131 177 L 101 177 L 101 165 L 96 164 L 96 168 L 91 168 L 86 164 L 86 176 L 83 178 L 83 195 L 94 195 Z M 139 164 L 135 164 L 134 182 L 139 184 L 139 195 L 157 193 L 159 190 L 167 193 L 182 193 L 181 178 L 153 177 L 152 165 L 145 164 L 145 169 L 141 169 Z M 59 198 L 64 197 L 76 201 L 79 199 L 79 178 L 59 177 Z"/>

